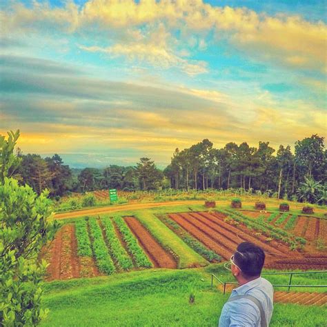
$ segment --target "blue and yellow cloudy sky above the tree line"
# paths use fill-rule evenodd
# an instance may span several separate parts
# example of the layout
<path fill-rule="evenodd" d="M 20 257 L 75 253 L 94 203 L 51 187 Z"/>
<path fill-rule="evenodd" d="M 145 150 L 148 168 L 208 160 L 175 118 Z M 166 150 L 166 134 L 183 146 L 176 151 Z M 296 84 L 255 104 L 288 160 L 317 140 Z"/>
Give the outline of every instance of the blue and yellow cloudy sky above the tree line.
<path fill-rule="evenodd" d="M 75 168 L 326 137 L 326 5 L 2 0 L 0 135 Z"/>

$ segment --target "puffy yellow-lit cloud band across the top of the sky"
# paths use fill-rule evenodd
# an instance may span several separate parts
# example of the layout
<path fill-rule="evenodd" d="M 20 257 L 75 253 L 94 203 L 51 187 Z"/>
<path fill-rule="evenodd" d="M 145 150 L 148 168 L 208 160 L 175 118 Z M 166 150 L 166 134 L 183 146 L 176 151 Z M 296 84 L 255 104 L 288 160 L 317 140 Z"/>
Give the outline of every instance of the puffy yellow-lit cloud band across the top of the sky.
<path fill-rule="evenodd" d="M 148 43 L 143 30 L 157 30 L 158 24 L 165 26 L 170 35 L 182 30 L 182 37 L 190 34 L 214 32 L 216 42 L 221 37 L 230 41 L 236 48 L 248 55 L 264 61 L 275 60 L 290 68 L 311 68 L 326 73 L 326 24 L 322 21 L 309 22 L 299 16 L 277 14 L 274 17 L 257 13 L 247 8 L 221 8 L 211 6 L 201 0 L 90 0 L 83 6 L 68 1 L 63 7 L 50 6 L 48 3 L 34 1 L 30 8 L 22 3 L 1 12 L 3 32 L 32 30 L 50 32 L 53 28 L 69 33 L 95 33 L 99 30 L 117 31 L 123 38 L 130 39 L 133 31 L 135 43 L 117 41 L 108 47 L 88 44 L 84 49 L 108 52 L 156 63 L 159 56 L 163 65 L 175 65 L 189 75 L 206 72 L 202 62 L 188 62 L 179 57 L 178 43 L 167 48 L 160 43 Z M 188 32 L 186 32 L 188 31 Z M 100 32 L 101 34 L 101 32 Z M 108 37 L 110 38 L 110 34 Z M 202 38 L 199 49 L 206 48 Z M 184 53 L 186 49 L 184 50 Z"/>

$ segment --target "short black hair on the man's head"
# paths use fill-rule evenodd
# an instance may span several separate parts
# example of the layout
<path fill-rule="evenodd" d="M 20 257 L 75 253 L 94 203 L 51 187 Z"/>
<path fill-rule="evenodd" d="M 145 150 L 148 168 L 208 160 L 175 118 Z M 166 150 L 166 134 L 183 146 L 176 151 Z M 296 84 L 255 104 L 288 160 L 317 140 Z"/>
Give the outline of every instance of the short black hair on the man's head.
<path fill-rule="evenodd" d="M 255 277 L 261 274 L 266 255 L 264 250 L 250 242 L 243 242 L 237 246 L 234 261 L 241 269 L 244 277 Z"/>

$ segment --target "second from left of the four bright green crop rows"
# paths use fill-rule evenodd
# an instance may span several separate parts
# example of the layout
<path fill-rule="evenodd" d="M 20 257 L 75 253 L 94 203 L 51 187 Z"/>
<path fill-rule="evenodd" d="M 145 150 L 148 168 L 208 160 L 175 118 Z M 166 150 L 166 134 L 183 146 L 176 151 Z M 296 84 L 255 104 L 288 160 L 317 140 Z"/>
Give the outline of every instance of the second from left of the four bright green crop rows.
<path fill-rule="evenodd" d="M 108 253 L 108 248 L 102 237 L 100 226 L 95 218 L 89 220 L 90 235 L 93 239 L 92 247 L 97 266 L 102 273 L 111 275 L 115 273 L 115 265 Z"/>

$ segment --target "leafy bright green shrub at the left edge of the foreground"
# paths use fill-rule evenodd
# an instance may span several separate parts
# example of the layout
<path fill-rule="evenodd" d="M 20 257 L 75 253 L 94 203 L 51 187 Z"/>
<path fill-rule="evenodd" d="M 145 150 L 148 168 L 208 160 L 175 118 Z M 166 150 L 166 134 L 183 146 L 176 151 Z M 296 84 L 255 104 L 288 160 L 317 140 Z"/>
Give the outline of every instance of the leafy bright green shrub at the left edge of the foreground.
<path fill-rule="evenodd" d="M 37 255 L 53 237 L 57 223 L 49 221 L 47 191 L 38 197 L 30 186 L 6 177 L 17 164 L 13 150 L 18 136 L 0 139 L 0 324 L 35 326 L 47 314 L 41 308 L 40 287 L 46 262 L 40 263 Z"/>

